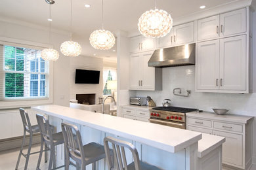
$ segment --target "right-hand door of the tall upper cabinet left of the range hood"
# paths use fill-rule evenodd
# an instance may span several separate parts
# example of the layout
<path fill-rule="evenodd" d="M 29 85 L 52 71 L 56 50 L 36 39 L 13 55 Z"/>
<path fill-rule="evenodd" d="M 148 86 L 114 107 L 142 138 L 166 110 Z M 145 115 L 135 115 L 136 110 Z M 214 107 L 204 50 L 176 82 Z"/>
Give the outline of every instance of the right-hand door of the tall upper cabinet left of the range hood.
<path fill-rule="evenodd" d="M 148 67 L 148 60 L 151 58 L 151 56 L 152 51 L 143 52 L 141 54 L 142 82 L 140 85 L 143 90 L 154 90 L 155 88 L 155 68 Z"/>

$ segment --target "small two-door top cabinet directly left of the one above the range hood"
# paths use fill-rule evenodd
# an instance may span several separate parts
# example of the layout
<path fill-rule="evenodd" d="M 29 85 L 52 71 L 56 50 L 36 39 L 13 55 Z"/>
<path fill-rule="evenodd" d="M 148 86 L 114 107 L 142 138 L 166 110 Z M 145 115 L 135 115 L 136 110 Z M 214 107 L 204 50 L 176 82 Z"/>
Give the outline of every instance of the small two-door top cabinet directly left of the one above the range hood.
<path fill-rule="evenodd" d="M 130 39 L 130 52 L 144 52 L 156 48 L 156 39 L 147 38 L 142 35 Z"/>

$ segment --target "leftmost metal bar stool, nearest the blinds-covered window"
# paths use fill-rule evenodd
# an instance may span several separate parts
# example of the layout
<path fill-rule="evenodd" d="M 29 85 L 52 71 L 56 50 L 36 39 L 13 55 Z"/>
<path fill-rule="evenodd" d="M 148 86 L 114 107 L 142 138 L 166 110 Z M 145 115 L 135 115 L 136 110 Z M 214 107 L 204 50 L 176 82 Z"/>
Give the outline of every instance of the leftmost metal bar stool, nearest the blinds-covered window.
<path fill-rule="evenodd" d="M 20 116 L 22 118 L 22 124 L 23 124 L 23 128 L 24 128 L 24 133 L 23 133 L 23 140 L 22 140 L 22 145 L 20 148 L 20 153 L 18 154 L 18 161 L 16 163 L 16 167 L 15 169 L 18 169 L 18 165 L 20 163 L 20 157 L 24 156 L 26 158 L 26 163 L 25 163 L 25 167 L 24 169 L 26 170 L 28 168 L 28 160 L 30 159 L 30 155 L 31 154 L 37 154 L 38 152 L 32 152 L 31 151 L 31 147 L 32 147 L 32 137 L 33 137 L 33 133 L 39 133 L 39 126 L 38 125 L 31 125 L 30 123 L 30 117 L 28 116 L 28 112 L 25 109 L 20 108 Z M 28 144 L 28 153 L 24 154 L 23 148 L 24 148 L 24 144 L 25 144 L 25 139 L 26 139 L 26 132 L 30 133 L 30 143 Z M 46 146 L 45 146 L 45 150 L 46 150 Z M 44 150 L 44 151 L 45 151 Z M 47 162 L 47 152 L 45 152 L 45 162 Z"/>

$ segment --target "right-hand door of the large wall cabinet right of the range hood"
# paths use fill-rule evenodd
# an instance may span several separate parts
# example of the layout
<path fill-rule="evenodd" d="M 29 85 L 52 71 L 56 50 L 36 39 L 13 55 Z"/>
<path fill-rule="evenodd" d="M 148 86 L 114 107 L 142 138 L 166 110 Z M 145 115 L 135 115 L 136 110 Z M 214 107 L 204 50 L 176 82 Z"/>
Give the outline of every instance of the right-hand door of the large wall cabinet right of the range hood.
<path fill-rule="evenodd" d="M 245 35 L 220 40 L 221 90 L 246 90 Z"/>

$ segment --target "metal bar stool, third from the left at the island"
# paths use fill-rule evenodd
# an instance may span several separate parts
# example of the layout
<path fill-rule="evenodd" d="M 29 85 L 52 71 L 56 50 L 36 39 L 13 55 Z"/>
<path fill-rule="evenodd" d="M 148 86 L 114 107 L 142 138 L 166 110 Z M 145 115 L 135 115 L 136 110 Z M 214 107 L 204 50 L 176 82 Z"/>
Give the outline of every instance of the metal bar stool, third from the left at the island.
<path fill-rule="evenodd" d="M 72 163 L 70 158 L 76 162 L 77 169 L 81 166 L 82 170 L 85 170 L 85 166 L 93 163 L 93 170 L 96 169 L 96 161 L 106 157 L 104 152 L 104 146 L 97 143 L 88 143 L 83 145 L 81 140 L 81 134 L 77 126 L 62 123 L 62 133 L 64 136 L 65 148 L 66 148 L 66 167 L 69 169 L 69 164 Z"/>

